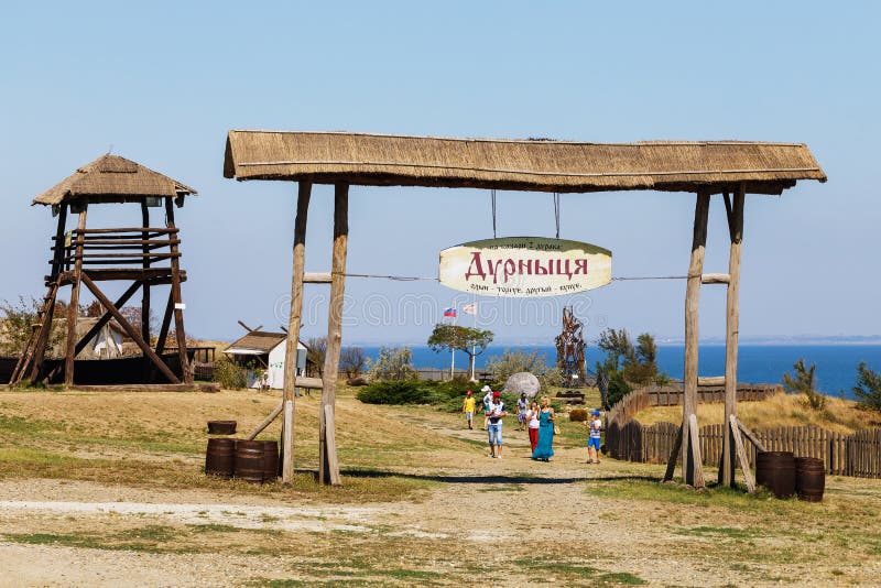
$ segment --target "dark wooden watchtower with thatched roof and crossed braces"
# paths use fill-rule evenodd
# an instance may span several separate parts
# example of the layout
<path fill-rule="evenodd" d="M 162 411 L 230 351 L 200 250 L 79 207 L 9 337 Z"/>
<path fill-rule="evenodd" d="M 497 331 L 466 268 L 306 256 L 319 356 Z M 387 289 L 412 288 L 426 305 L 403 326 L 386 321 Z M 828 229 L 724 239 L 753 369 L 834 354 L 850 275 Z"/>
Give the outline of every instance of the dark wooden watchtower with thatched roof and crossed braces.
<path fill-rule="evenodd" d="M 52 244 L 51 271 L 45 276 L 46 295 L 24 351 L 12 373 L 10 383 L 30 380 L 54 381 L 64 373 L 65 385 L 74 384 L 74 358 L 91 338 L 111 319 L 116 320 L 135 342 L 144 356 L 142 379 L 149 383 L 156 375 L 171 383 L 193 382 L 187 361 L 186 333 L 184 330 L 181 283 L 186 272 L 181 270 L 180 229 L 174 224 L 175 205 L 184 205 L 184 197 L 196 194 L 191 187 L 117 155 L 102 155 L 78 168 L 53 188 L 37 196 L 33 204 L 52 206 L 58 226 Z M 124 228 L 88 228 L 86 214 L 99 204 L 139 204 L 141 224 Z M 165 221 L 151 226 L 150 209 L 163 208 Z M 76 215 L 76 228 L 67 230 L 67 217 Z M 105 295 L 99 283 L 106 281 L 131 282 L 116 301 Z M 77 339 L 76 323 L 79 308 L 80 285 L 95 296 L 104 308 L 98 323 Z M 171 285 L 155 349 L 151 347 L 150 303 L 153 286 Z M 67 305 L 65 357 L 53 370 L 45 368 L 45 352 L 52 331 L 53 314 L 59 291 L 70 286 Z M 141 326 L 134 328 L 120 309 L 141 291 Z M 162 359 L 174 318 L 181 375 Z"/>

